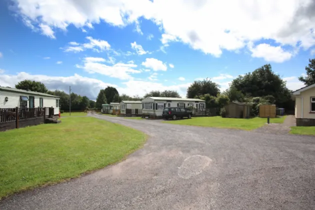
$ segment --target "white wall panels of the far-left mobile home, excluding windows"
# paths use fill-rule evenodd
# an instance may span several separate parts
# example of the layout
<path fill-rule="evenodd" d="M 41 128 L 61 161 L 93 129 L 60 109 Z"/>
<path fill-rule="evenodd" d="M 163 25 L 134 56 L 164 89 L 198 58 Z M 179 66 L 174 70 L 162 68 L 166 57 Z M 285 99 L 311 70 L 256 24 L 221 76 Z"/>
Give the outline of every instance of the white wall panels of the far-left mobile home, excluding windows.
<path fill-rule="evenodd" d="M 59 107 L 56 107 L 56 99 L 58 97 L 41 96 L 34 94 L 27 94 L 24 92 L 12 92 L 0 90 L 0 108 L 15 108 L 20 105 L 20 96 L 34 96 L 34 107 L 39 107 L 39 98 L 42 97 L 43 107 L 54 107 L 54 114 L 59 113 Z M 5 101 L 5 97 L 8 97 L 8 101 Z M 29 107 L 29 101 L 27 101 L 27 107 Z"/>

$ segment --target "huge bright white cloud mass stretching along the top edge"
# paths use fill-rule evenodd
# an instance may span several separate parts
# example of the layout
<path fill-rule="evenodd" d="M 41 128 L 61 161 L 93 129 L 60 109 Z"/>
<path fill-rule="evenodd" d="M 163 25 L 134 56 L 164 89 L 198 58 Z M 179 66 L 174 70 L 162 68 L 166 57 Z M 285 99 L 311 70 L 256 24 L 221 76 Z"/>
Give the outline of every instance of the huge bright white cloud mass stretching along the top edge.
<path fill-rule="evenodd" d="M 139 25 L 139 18 L 144 18 L 163 31 L 163 44 L 180 41 L 213 56 L 257 40 L 303 49 L 315 45 L 313 0 L 90 0 L 88 6 L 83 0 L 13 2 L 11 8 L 30 28 L 46 25 L 66 30 L 69 24 L 92 27 L 101 21 L 123 27 Z M 205 26 L 205 19 L 216 21 Z M 50 30 L 45 34 L 53 37 Z"/>

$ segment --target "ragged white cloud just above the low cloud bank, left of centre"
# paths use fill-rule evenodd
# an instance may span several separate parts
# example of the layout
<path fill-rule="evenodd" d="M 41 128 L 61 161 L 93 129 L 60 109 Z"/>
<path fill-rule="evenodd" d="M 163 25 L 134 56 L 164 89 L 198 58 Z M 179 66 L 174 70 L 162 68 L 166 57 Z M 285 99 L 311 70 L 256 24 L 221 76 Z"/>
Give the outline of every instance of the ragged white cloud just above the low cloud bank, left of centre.
<path fill-rule="evenodd" d="M 84 69 L 88 73 L 99 73 L 106 76 L 119 78 L 119 79 L 132 79 L 132 73 L 140 73 L 140 70 L 134 69 L 137 67 L 134 63 L 121 63 L 118 62 L 114 65 L 106 65 L 105 59 L 101 57 L 85 57 L 83 65 L 76 64 L 78 68 Z"/>

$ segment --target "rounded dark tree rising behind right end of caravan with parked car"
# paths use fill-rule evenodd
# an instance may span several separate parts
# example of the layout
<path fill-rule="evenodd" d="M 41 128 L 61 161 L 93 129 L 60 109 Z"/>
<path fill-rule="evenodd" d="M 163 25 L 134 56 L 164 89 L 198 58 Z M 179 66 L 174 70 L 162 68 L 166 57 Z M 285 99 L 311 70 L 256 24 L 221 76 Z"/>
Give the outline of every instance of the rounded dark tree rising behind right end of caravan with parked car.
<path fill-rule="evenodd" d="M 220 93 L 220 85 L 212 82 L 210 79 L 206 78 L 203 80 L 194 81 L 187 89 L 187 98 L 195 98 L 199 95 L 209 94 L 216 96 Z"/>

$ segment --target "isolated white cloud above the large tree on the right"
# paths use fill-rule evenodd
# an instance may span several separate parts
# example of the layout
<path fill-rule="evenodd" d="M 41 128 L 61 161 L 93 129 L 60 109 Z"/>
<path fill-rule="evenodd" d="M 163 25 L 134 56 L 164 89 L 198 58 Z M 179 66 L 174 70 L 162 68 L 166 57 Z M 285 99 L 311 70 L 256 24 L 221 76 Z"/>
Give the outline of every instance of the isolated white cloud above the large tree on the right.
<path fill-rule="evenodd" d="M 249 50 L 252 52 L 252 57 L 260 57 L 273 62 L 284 62 L 293 56 L 292 52 L 284 51 L 281 46 L 271 46 L 266 43 L 250 47 Z"/>

